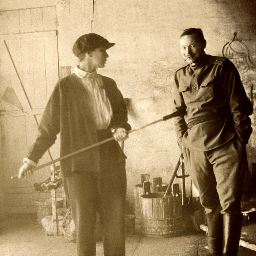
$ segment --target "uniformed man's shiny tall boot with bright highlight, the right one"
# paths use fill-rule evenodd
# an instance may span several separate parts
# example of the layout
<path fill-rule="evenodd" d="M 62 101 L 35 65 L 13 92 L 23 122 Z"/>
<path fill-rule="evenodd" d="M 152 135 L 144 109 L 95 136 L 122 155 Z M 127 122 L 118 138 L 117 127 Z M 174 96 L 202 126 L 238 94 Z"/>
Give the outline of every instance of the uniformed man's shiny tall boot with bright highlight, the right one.
<path fill-rule="evenodd" d="M 237 256 L 242 229 L 240 213 L 223 214 L 223 256 Z"/>

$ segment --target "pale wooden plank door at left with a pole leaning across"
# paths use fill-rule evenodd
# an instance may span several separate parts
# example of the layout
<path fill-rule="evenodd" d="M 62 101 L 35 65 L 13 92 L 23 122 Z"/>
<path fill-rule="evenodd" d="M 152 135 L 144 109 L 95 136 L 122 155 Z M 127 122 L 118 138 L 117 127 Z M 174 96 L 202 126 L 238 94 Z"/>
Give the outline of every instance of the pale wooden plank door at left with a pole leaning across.
<path fill-rule="evenodd" d="M 0 36 L 0 122 L 2 193 L 7 212 L 35 212 L 35 201 L 44 195 L 34 183 L 44 181 L 48 171 L 12 180 L 37 135 L 37 123 L 59 79 L 56 30 Z M 58 143 L 57 143 L 58 144 Z M 58 145 L 54 156 L 58 157 Z M 40 162 L 50 161 L 48 153 Z M 40 163 L 39 162 L 39 163 Z"/>

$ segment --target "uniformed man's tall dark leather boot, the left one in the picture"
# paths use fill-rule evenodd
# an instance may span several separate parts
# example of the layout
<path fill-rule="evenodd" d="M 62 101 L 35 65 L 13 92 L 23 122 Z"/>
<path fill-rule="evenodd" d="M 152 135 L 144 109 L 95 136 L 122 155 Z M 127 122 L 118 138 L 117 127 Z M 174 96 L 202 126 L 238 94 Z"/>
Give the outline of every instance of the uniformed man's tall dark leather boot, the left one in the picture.
<path fill-rule="evenodd" d="M 219 206 L 211 214 L 206 214 L 209 233 L 209 256 L 221 256 L 223 248 L 223 216 Z"/>

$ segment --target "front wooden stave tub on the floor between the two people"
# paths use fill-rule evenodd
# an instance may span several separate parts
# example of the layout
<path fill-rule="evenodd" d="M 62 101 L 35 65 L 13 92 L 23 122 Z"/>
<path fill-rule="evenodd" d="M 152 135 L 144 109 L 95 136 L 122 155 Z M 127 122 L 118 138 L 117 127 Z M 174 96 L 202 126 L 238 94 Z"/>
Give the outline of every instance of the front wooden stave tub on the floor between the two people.
<path fill-rule="evenodd" d="M 184 229 L 181 195 L 142 195 L 142 233 L 147 237 L 174 237 Z"/>

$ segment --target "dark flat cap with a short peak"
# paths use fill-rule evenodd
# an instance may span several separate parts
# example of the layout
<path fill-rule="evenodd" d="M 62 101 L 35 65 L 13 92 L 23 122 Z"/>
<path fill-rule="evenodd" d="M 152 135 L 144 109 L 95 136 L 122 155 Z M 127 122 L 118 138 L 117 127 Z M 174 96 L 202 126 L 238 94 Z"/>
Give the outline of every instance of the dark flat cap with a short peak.
<path fill-rule="evenodd" d="M 98 34 L 89 33 L 79 37 L 74 46 L 73 53 L 79 58 L 82 54 L 90 52 L 98 47 L 104 47 L 106 49 L 115 45 L 114 43 L 108 42 L 108 40 Z"/>

